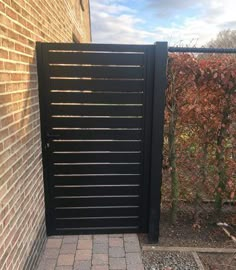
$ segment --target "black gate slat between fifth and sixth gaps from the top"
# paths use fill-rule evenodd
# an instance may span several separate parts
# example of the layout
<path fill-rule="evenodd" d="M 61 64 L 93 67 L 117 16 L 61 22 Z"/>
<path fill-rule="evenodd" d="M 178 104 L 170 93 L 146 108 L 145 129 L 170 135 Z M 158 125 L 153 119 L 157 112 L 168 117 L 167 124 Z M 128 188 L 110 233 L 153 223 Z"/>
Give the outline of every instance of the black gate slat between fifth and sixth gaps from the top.
<path fill-rule="evenodd" d="M 142 106 L 51 106 L 51 113 L 53 115 L 139 116 L 142 115 L 142 110 Z"/>

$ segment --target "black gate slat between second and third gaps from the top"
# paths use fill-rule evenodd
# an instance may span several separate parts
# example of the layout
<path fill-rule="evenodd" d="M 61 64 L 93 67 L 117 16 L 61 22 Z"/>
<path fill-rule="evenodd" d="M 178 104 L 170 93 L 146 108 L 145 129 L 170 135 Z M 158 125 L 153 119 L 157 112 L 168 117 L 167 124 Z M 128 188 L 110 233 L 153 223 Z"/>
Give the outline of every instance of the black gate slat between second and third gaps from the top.
<path fill-rule="evenodd" d="M 143 67 L 49 66 L 50 77 L 142 79 Z"/>

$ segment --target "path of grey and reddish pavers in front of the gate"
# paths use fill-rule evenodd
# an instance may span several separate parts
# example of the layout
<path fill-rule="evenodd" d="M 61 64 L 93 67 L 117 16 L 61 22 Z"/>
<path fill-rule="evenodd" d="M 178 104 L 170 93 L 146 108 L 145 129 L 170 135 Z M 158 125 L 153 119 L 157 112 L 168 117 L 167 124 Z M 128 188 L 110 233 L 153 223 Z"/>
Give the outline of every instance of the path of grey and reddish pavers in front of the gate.
<path fill-rule="evenodd" d="M 37 270 L 144 270 L 136 234 L 49 237 Z"/>

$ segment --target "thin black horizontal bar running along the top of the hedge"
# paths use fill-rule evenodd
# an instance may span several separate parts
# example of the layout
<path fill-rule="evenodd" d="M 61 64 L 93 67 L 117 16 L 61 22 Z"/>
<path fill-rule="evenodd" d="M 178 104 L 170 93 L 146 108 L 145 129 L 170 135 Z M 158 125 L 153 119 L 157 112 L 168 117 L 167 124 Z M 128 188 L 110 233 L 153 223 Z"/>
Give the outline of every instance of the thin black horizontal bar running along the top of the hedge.
<path fill-rule="evenodd" d="M 188 53 L 236 53 L 236 48 L 188 48 L 188 47 L 168 47 L 168 52 L 188 52 Z"/>

